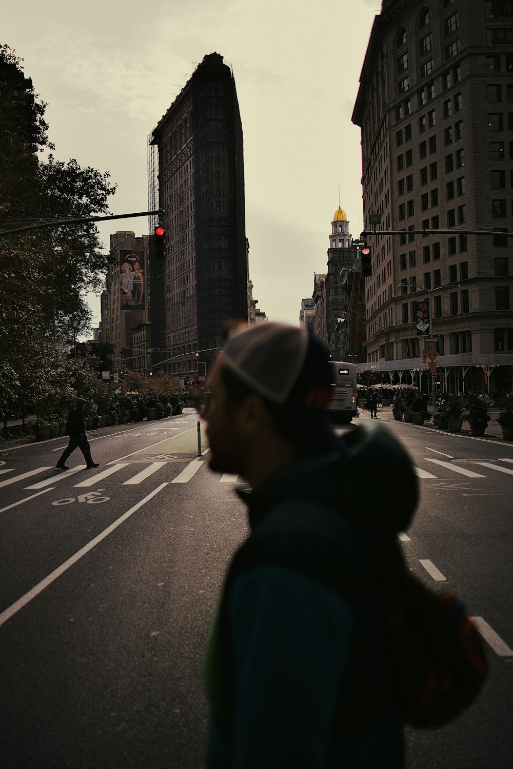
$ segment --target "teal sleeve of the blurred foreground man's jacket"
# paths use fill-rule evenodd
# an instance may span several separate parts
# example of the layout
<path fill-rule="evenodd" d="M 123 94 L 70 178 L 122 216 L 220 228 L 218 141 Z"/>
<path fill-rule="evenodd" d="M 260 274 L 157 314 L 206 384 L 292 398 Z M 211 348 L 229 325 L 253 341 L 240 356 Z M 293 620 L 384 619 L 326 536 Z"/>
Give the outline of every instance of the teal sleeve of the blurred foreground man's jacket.
<path fill-rule="evenodd" d="M 266 565 L 235 581 L 230 623 L 232 767 L 324 767 L 354 626 L 348 604 L 295 571 Z"/>

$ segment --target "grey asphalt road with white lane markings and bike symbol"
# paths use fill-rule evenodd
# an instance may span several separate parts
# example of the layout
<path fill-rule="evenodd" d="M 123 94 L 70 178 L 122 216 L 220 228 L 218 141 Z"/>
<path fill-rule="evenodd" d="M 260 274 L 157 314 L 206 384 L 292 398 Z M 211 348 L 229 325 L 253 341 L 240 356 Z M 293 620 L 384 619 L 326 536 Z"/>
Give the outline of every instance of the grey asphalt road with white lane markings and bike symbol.
<path fill-rule="evenodd" d="M 408 766 L 510 767 L 513 444 L 386 421 L 421 476 L 402 547 L 481 618 L 491 666 L 458 721 L 408 730 Z M 62 438 L 0 453 L 5 769 L 202 767 L 208 627 L 247 529 L 236 479 L 197 457 L 196 425 L 186 411 L 91 433 L 95 470 L 77 450 L 55 471 Z"/>

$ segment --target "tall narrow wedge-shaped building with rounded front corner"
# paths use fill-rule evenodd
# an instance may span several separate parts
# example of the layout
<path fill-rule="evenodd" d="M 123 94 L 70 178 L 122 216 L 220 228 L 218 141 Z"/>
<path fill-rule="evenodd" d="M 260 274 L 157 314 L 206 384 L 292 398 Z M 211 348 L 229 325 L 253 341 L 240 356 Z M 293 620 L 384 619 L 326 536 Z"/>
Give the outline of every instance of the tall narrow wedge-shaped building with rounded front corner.
<path fill-rule="evenodd" d="M 248 321 L 250 307 L 242 122 L 221 55 L 205 56 L 152 143 L 167 251 L 162 368 L 185 377 L 196 352 L 212 368 L 225 322 Z"/>

